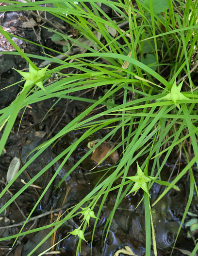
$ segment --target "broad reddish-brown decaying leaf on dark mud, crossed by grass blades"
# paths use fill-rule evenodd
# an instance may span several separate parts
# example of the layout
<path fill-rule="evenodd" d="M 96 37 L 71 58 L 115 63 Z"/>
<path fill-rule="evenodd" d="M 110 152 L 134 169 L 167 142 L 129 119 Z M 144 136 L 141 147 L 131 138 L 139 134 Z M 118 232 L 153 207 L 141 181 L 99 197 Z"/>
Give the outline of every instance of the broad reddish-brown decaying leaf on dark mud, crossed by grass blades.
<path fill-rule="evenodd" d="M 90 147 L 93 148 L 95 146 L 95 142 L 91 141 L 89 143 Z M 93 151 L 91 159 L 96 163 L 102 161 L 103 158 L 112 150 L 112 143 L 103 142 Z M 119 155 L 117 150 L 115 150 L 108 158 L 106 158 L 107 162 L 116 163 L 119 160 Z"/>

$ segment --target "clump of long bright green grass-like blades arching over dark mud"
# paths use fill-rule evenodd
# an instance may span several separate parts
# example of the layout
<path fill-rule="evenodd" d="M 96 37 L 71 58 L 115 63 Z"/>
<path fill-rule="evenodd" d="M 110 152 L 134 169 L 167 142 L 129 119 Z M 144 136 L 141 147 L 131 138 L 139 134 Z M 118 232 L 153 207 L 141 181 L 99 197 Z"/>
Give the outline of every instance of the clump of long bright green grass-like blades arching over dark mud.
<path fill-rule="evenodd" d="M 53 7 L 41 5 L 49 2 L 53 3 Z M 154 170 L 157 169 L 155 178 L 160 178 L 165 163 L 173 152 L 174 147 L 178 146 L 180 150 L 184 151 L 188 164 L 179 175 L 174 178 L 172 183 L 164 183 L 167 186 L 165 191 L 153 203 L 153 205 L 155 205 L 171 188 L 176 188 L 175 184 L 181 177 L 189 172 L 189 198 L 183 213 L 178 235 L 192 202 L 194 185 L 196 187 L 192 166 L 198 162 L 198 128 L 196 128 L 198 90 L 191 75 L 195 72 L 194 66 L 197 66 L 198 60 L 198 2 L 187 1 L 184 3 L 167 0 L 164 1 L 164 8 L 159 10 L 156 9 L 154 0 L 137 0 L 135 6 L 125 0 L 123 2 L 102 1 L 103 4 L 111 7 L 113 18 L 108 16 L 96 2 L 90 0 L 88 3 L 87 5 L 85 2 L 80 1 L 77 5 L 72 2 L 61 3 L 53 0 L 39 2 L 28 1 L 27 3 L 13 1 L 12 5 L 1 7 L 2 12 L 19 10 L 49 12 L 60 20 L 67 22 L 72 29 L 76 31 L 78 37 L 75 38 L 74 35 L 67 36 L 52 28 L 46 27 L 46 29 L 61 36 L 63 40 L 66 40 L 66 43 L 68 43 L 68 41 L 71 42 L 69 50 L 71 50 L 73 46 L 79 46 L 81 47 L 80 49 L 84 49 L 85 53 L 79 53 L 73 56 L 67 56 L 65 53 L 66 59 L 64 61 L 53 59 L 50 56 L 41 58 L 41 56 L 34 54 L 24 54 L 16 46 L 14 41 L 12 41 L 12 35 L 0 28 L 0 32 L 10 41 L 17 51 L 3 52 L 3 54 L 19 54 L 33 66 L 34 64 L 30 60 L 32 57 L 58 63 L 58 67 L 50 70 L 50 73 L 61 73 L 64 68 L 69 67 L 78 70 L 77 74 L 65 75 L 63 79 L 46 86 L 46 92 L 35 89 L 21 93 L 10 106 L 0 110 L 0 127 L 4 129 L 0 141 L 0 152 L 15 124 L 19 110 L 23 107 L 31 105 L 34 102 L 54 97 L 57 99 L 67 98 L 88 101 L 90 106 L 68 123 L 60 132 L 34 150 L 37 150 L 35 155 L 25 163 L 15 178 L 3 189 L 0 197 L 6 193 L 15 182 L 16 178 L 19 177 L 44 150 L 70 131 L 86 128 L 86 132 L 77 141 L 67 147 L 20 189 L 16 195 L 0 209 L 0 213 L 5 211 L 21 193 L 53 164 L 59 159 L 64 158 L 57 172 L 53 175 L 49 184 L 34 205 L 26 220 L 27 222 L 63 165 L 83 140 L 104 127 L 111 128 L 109 134 L 102 138 L 97 145 L 90 149 L 69 170 L 66 176 L 57 185 L 56 189 L 60 187 L 66 177 L 68 177 L 102 142 L 105 140 L 111 141 L 117 132 L 121 134 L 121 139 L 118 141 L 119 143 L 106 156 L 108 157 L 118 148 L 122 151 L 122 157 L 116 164 L 114 172 L 100 181 L 86 197 L 70 210 L 66 217 L 51 225 L 46 225 L 28 232 L 23 232 L 25 222 L 19 234 L 0 239 L 1 241 L 11 238 L 17 239 L 19 236 L 53 227 L 53 229 L 49 231 L 49 234 L 36 245 L 29 256 L 32 255 L 66 220 L 76 216 L 79 213 L 80 207 L 86 204 L 87 209 L 93 210 L 100 199 L 99 211 L 93 227 L 93 240 L 98 218 L 108 193 L 112 190 L 116 190 L 117 197 L 115 206 L 103 230 L 103 235 L 106 234 L 104 237 L 107 237 L 117 207 L 125 195 L 131 190 L 132 184 L 126 181 L 126 177 L 128 176 L 130 166 L 138 159 L 145 159 L 141 162 L 141 169 L 146 168 L 150 177 L 154 177 Z M 126 25 L 123 26 L 123 24 Z M 112 36 L 113 33 L 114 36 Z M 89 43 L 87 43 L 87 41 L 84 43 L 81 39 L 86 39 Z M 53 49 L 49 50 L 55 52 Z M 69 62 L 71 59 L 73 59 L 73 62 Z M 43 82 L 47 79 L 47 77 L 44 77 Z M 183 98 L 177 98 L 174 102 L 171 100 L 172 98 L 168 98 L 167 95 L 171 93 L 171 88 L 174 83 L 180 84 L 181 81 L 184 81 L 181 90 Z M 98 87 L 108 89 L 98 100 L 71 96 L 76 90 L 79 92 L 82 90 L 94 91 Z M 131 94 L 134 96 L 133 98 L 129 97 Z M 121 103 L 116 102 L 115 95 L 121 96 Z M 109 102 L 108 99 L 113 97 L 115 101 L 113 103 Z M 163 98 L 167 101 L 161 100 Z M 89 115 L 101 104 L 107 108 L 103 108 L 99 114 Z M 15 112 L 13 111 L 14 108 L 16 110 Z M 109 116 L 110 118 L 100 119 L 101 116 Z M 192 146 L 193 149 L 192 156 L 187 154 L 185 141 L 191 141 L 190 146 Z M 164 156 L 163 161 L 159 158 L 162 154 Z M 150 162 L 152 162 L 152 168 L 148 170 L 148 166 L 150 166 L 148 164 Z M 114 187 L 113 184 L 119 177 L 122 178 L 121 183 Z M 162 181 L 160 182 L 163 184 Z M 148 190 L 151 188 L 152 183 L 153 182 L 150 180 Z M 144 203 L 146 213 L 146 256 L 150 256 L 151 250 L 150 226 L 152 227 L 154 253 L 157 255 L 151 207 L 147 193 L 144 195 Z M 87 222 L 83 223 L 83 232 L 87 224 Z M 80 243 L 81 239 L 76 255 L 78 254 Z M 192 256 L 195 255 L 197 249 L 198 246 L 195 247 L 195 250 L 191 254 Z"/>

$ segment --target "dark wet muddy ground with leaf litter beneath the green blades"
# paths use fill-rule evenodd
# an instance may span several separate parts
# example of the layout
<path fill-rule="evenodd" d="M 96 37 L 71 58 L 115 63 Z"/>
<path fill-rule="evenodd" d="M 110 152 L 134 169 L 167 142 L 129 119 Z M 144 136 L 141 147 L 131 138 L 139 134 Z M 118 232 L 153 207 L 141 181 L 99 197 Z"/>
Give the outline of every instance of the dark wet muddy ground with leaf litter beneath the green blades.
<path fill-rule="evenodd" d="M 21 17 L 19 23 L 18 20 Z M 35 33 L 39 35 L 39 40 L 43 45 L 48 47 L 54 47 L 56 50 L 61 50 L 62 46 L 55 44 L 51 41 L 51 36 L 49 31 L 44 30 L 38 25 L 33 26 L 33 28 L 26 24 L 24 27 L 23 21 L 24 17 L 28 17 L 28 20 L 34 19 L 33 16 L 27 16 L 26 13 L 12 13 L 12 16 L 5 14 L 2 19 L 4 26 L 8 27 L 13 33 L 25 37 L 26 39 L 37 41 L 35 39 Z M 14 21 L 13 21 L 14 20 Z M 27 19 L 25 19 L 27 21 Z M 45 22 L 45 20 L 43 21 Z M 64 26 L 64 24 L 63 24 Z M 1 39 L 3 41 L 5 39 Z M 20 39 L 16 39 L 18 45 L 24 44 Z M 3 45 L 5 45 L 5 42 Z M 6 49 L 10 50 L 9 45 Z M 22 47 L 22 46 L 21 46 Z M 24 47 L 24 46 L 23 46 Z M 29 44 L 26 42 L 26 47 L 24 48 L 26 53 L 34 52 L 34 54 L 40 54 L 41 49 L 38 46 Z M 48 51 L 46 51 L 48 53 Z M 51 54 L 51 53 L 50 53 Z M 37 59 L 35 61 L 38 61 Z M 42 64 L 42 63 L 37 63 Z M 0 55 L 0 77 L 1 84 L 0 88 L 15 83 L 20 78 L 20 75 L 15 72 L 12 68 L 23 69 L 26 67 L 26 61 L 19 56 L 14 55 Z M 52 64 L 51 68 L 55 65 Z M 65 72 L 74 72 L 75 70 L 65 70 Z M 50 82 L 50 81 L 49 81 Z M 11 102 L 16 98 L 17 93 L 20 91 L 18 86 L 10 87 L 0 93 L 0 108 L 4 108 L 11 104 Z M 82 93 L 82 91 L 81 91 Z M 83 92 L 84 96 L 90 98 L 90 93 Z M 76 93 L 75 96 L 79 96 L 80 93 Z M 97 90 L 95 97 L 96 99 L 101 95 L 101 91 Z M 32 104 L 26 109 L 25 114 L 22 118 L 19 132 L 17 133 L 18 126 L 20 123 L 20 118 L 22 117 L 23 110 L 18 114 L 14 129 L 6 143 L 4 155 L 0 156 L 0 189 L 5 187 L 6 174 L 11 160 L 14 157 L 20 158 L 21 165 L 24 165 L 28 154 L 37 146 L 45 142 L 49 136 L 53 136 L 59 132 L 68 122 L 73 118 L 78 116 L 85 110 L 88 103 L 78 102 L 78 101 L 68 101 L 66 99 L 61 99 L 55 107 L 50 111 L 49 109 L 53 106 L 55 98 L 41 101 Z M 48 113 L 49 111 L 49 113 Z M 99 111 L 99 110 L 98 110 Z M 47 114 L 48 113 L 48 114 Z M 46 116 L 47 114 L 47 116 Z M 46 117 L 45 117 L 46 116 Z M 44 119 L 43 119 L 44 118 Z M 109 117 L 103 117 L 109 118 Z M 59 120 L 61 121 L 59 122 Z M 86 130 L 73 131 L 67 134 L 65 137 L 61 138 L 55 147 L 50 147 L 42 153 L 36 161 L 34 161 L 29 168 L 24 172 L 21 177 L 16 180 L 14 185 L 11 187 L 9 193 L 5 197 L 0 199 L 0 207 L 2 207 L 13 195 L 16 194 L 22 186 L 23 183 L 21 179 L 28 182 L 29 178 L 34 177 L 38 171 L 40 171 L 46 164 L 48 164 L 53 158 L 55 158 L 60 152 L 62 152 L 66 147 L 71 145 L 76 139 L 78 139 L 82 133 Z M 83 141 L 68 159 L 64 168 L 62 168 L 58 177 L 55 179 L 54 183 L 50 186 L 48 192 L 43 197 L 41 203 L 38 205 L 36 211 L 34 211 L 31 220 L 25 226 L 25 230 L 33 229 L 36 227 L 41 227 L 53 222 L 58 213 L 67 214 L 68 209 L 76 205 L 83 197 L 85 197 L 96 185 L 99 178 L 105 173 L 105 169 L 111 164 L 109 162 L 103 162 L 97 168 L 90 172 L 90 170 L 96 166 L 96 162 L 89 158 L 85 159 L 78 168 L 69 175 L 65 182 L 62 183 L 61 187 L 55 192 L 54 188 L 60 182 L 60 180 L 66 175 L 68 170 L 74 166 L 77 161 L 82 158 L 83 155 L 88 151 L 87 143 L 91 140 L 103 138 L 110 129 L 104 129 L 99 131 L 94 135 L 93 138 Z M 119 134 L 117 135 L 117 138 Z M 116 141 L 116 139 L 115 139 Z M 114 141 L 114 142 L 115 142 Z M 118 153 L 120 154 L 121 151 Z M 163 157 L 162 157 L 163 158 Z M 163 159 L 162 159 L 163 161 Z M 164 170 L 162 177 L 163 180 L 167 180 L 171 171 L 173 170 L 175 164 L 176 168 L 173 172 L 171 179 L 173 179 L 178 172 L 177 159 L 168 159 L 166 164 L 166 169 Z M 58 169 L 61 162 L 56 163 L 50 170 L 48 170 L 42 177 L 36 180 L 35 185 L 40 188 L 29 187 L 24 193 L 22 193 L 14 203 L 12 203 L 7 210 L 0 215 L 0 237 L 6 237 L 15 235 L 19 232 L 23 221 L 30 214 L 33 205 L 39 198 L 39 195 L 43 192 L 50 178 L 53 176 L 54 172 Z M 186 165 L 185 158 L 183 158 L 182 165 Z M 102 171 L 103 170 L 103 171 Z M 99 172 L 100 171 L 100 172 Z M 131 175 L 136 173 L 134 167 L 130 170 Z M 108 173 L 106 174 L 109 175 Z M 155 225 L 156 241 L 158 247 L 159 256 L 169 256 L 172 250 L 172 246 L 177 236 L 177 231 L 181 223 L 181 218 L 187 203 L 189 194 L 189 182 L 186 182 L 189 177 L 186 175 L 177 184 L 180 187 L 180 192 L 171 190 L 163 199 L 152 208 L 153 222 Z M 117 181 L 119 182 L 119 180 Z M 116 184 L 115 184 L 116 185 Z M 164 188 L 161 188 L 159 184 L 154 184 L 149 191 L 151 196 L 151 203 L 155 201 L 157 197 L 162 193 Z M 137 256 L 145 255 L 145 216 L 144 216 L 144 203 L 141 203 L 136 209 L 137 204 L 143 197 L 143 193 L 139 191 L 135 197 L 129 195 L 123 199 L 120 203 L 117 211 L 115 212 L 115 217 L 112 222 L 109 235 L 106 240 L 105 236 L 102 236 L 104 225 L 110 216 L 112 209 L 115 205 L 117 191 L 112 191 L 106 200 L 105 207 L 102 209 L 102 214 L 100 216 L 99 222 L 96 227 L 94 241 L 92 245 L 92 255 L 93 256 L 117 256 L 120 249 L 124 249 L 125 246 L 129 246 L 132 252 Z M 190 208 L 190 213 L 193 213 L 198 217 L 198 199 L 196 197 L 193 199 L 193 204 Z M 97 208 L 96 208 L 97 210 Z M 97 214 L 97 213 L 95 213 Z M 189 221 L 192 218 L 188 215 Z M 80 225 L 80 216 L 77 216 L 70 221 L 64 223 L 61 228 L 57 231 L 56 236 L 53 238 L 55 242 L 61 240 L 67 235 L 67 232 L 71 232 L 74 228 L 78 228 Z M 88 241 L 86 244 L 82 241 L 81 254 L 79 256 L 90 256 L 91 248 L 91 237 L 92 228 L 94 225 L 94 219 L 90 219 L 90 227 L 86 230 L 84 236 Z M 176 248 L 174 250 L 174 256 L 189 255 L 194 249 L 194 240 L 196 234 L 192 237 L 187 237 L 187 232 L 189 227 L 183 226 L 181 233 L 178 237 L 178 242 L 176 243 Z M 12 248 L 14 239 L 0 242 L 0 256 L 27 256 L 28 253 L 35 247 L 35 245 L 47 234 L 49 230 L 39 231 L 27 235 L 25 237 L 20 237 L 16 245 Z M 105 234 L 104 234 L 105 235 Z M 57 247 L 55 251 L 59 251 L 56 255 L 59 256 L 75 256 L 75 249 L 78 244 L 78 236 L 69 236 L 67 239 L 63 240 Z M 38 256 L 45 249 L 51 246 L 51 238 L 49 238 L 42 248 L 39 248 L 34 256 Z M 117 252 L 117 254 L 116 254 Z M 124 254 L 124 251 L 119 254 Z M 153 252 L 152 252 L 153 255 Z"/>

